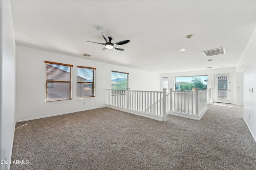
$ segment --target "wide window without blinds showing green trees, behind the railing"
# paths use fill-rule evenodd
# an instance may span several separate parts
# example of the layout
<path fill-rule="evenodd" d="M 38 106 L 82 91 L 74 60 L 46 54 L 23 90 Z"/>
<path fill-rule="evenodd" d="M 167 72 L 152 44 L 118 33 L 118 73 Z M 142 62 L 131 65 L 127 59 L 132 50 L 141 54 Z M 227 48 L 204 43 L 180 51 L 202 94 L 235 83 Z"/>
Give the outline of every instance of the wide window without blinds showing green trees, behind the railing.
<path fill-rule="evenodd" d="M 208 76 L 175 77 L 175 90 L 192 90 L 193 87 L 204 90 L 207 88 Z"/>

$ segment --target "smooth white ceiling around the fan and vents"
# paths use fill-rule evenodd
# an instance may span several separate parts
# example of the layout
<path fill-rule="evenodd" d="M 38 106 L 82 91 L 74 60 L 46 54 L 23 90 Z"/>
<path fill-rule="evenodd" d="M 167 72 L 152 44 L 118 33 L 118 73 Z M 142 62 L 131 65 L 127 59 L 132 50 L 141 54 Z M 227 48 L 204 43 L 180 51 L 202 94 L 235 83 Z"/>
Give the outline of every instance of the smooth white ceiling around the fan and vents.
<path fill-rule="evenodd" d="M 17 45 L 156 73 L 235 67 L 256 27 L 256 0 L 11 0 L 11 5 Z M 106 42 L 96 27 L 113 43 L 130 42 L 117 45 L 124 51 L 102 51 L 104 45 L 86 42 Z M 226 47 L 226 54 L 204 57 L 202 51 L 219 47 Z"/>

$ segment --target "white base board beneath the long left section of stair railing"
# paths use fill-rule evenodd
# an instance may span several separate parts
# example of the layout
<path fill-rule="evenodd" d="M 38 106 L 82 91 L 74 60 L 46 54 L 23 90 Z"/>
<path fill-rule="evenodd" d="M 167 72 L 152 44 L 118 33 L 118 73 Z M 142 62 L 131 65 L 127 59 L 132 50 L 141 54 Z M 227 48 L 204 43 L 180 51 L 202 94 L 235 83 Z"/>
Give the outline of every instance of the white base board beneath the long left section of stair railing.
<path fill-rule="evenodd" d="M 150 114 L 150 113 L 146 113 L 146 112 L 142 112 L 142 111 L 136 111 L 136 110 L 132 110 L 132 109 L 126 109 L 126 108 L 117 107 L 117 106 L 113 106 L 113 105 L 109 105 L 109 104 L 106 104 L 106 107 L 116 109 L 116 110 L 120 110 L 120 111 L 124 111 L 126 113 L 131 113 L 131 114 L 134 114 L 134 115 L 139 115 L 139 116 L 142 116 L 142 117 L 147 117 L 147 118 L 158 120 L 158 121 L 163 121 L 163 117 L 160 116 L 160 115 L 153 115 L 153 114 Z"/>

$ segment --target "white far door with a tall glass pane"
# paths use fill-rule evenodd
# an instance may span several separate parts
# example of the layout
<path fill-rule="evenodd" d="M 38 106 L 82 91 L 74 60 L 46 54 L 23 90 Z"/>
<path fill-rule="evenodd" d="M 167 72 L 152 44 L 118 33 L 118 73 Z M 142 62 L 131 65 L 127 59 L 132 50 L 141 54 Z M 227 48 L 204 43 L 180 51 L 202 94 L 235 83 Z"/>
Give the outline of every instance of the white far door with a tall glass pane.
<path fill-rule="evenodd" d="M 214 102 L 231 103 L 231 74 L 215 75 Z"/>

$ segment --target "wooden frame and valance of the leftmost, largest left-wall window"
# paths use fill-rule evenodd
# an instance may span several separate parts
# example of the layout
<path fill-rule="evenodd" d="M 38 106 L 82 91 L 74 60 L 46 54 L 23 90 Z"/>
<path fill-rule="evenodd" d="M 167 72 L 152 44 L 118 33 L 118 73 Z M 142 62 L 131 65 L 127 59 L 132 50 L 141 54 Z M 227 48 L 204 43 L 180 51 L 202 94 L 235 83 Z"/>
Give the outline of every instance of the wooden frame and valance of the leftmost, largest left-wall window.
<path fill-rule="evenodd" d="M 51 62 L 51 61 L 44 61 L 45 63 L 45 102 L 53 102 L 53 101 L 60 101 L 60 100 L 72 100 L 72 68 L 73 65 L 71 64 L 63 64 L 63 63 L 56 63 L 56 62 Z M 62 80 L 47 80 L 47 64 L 55 64 L 55 65 L 60 65 L 60 66 L 69 66 L 70 67 L 70 72 L 69 72 L 69 81 L 62 81 Z M 63 70 L 65 71 L 65 70 Z M 57 83 L 69 83 L 69 97 L 68 98 L 61 98 L 61 99 L 50 99 L 47 100 L 47 93 L 48 93 L 48 88 L 54 88 L 54 82 Z M 47 84 L 51 83 L 51 86 L 48 87 Z"/>

